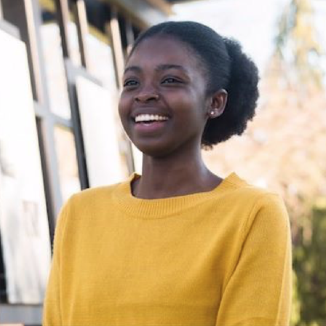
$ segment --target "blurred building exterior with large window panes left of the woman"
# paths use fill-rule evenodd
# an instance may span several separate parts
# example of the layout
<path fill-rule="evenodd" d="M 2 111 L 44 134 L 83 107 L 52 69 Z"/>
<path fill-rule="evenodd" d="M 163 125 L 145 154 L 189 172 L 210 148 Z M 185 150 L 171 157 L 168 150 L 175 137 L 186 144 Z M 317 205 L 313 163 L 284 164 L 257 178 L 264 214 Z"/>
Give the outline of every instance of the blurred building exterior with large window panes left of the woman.
<path fill-rule="evenodd" d="M 137 169 L 116 112 L 124 58 L 170 13 L 165 0 L 0 0 L 0 323 L 41 324 L 65 200 Z"/>

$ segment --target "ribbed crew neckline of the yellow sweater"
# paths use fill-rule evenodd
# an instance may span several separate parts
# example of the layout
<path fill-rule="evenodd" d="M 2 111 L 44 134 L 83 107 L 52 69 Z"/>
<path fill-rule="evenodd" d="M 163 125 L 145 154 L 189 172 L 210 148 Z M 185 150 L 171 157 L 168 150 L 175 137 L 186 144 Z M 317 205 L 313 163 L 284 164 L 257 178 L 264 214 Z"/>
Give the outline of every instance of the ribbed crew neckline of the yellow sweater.
<path fill-rule="evenodd" d="M 120 211 L 143 219 L 161 218 L 177 214 L 205 200 L 218 199 L 227 191 L 246 184 L 235 172 L 232 172 L 211 191 L 161 199 L 141 199 L 133 196 L 131 191 L 132 181 L 140 177 L 141 175 L 136 172 L 132 173 L 125 182 L 115 187 L 112 196 Z"/>

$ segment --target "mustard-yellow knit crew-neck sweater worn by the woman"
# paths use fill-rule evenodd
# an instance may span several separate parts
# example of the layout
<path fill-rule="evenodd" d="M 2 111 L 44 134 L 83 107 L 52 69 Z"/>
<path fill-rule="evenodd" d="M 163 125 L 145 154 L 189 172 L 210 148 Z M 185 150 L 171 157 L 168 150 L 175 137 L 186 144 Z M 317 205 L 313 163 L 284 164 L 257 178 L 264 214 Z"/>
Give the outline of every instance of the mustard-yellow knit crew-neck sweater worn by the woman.
<path fill-rule="evenodd" d="M 44 326 L 287 326 L 289 219 L 231 173 L 214 190 L 131 194 L 135 173 L 63 207 Z"/>

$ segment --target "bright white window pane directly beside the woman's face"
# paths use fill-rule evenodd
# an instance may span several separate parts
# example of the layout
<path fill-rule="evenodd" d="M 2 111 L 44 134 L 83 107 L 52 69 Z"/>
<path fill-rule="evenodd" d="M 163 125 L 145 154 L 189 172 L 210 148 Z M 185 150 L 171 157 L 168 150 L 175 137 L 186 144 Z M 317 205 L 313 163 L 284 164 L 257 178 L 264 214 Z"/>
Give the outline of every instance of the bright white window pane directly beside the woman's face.
<path fill-rule="evenodd" d="M 89 184 L 121 182 L 126 178 L 126 166 L 121 160 L 113 98 L 105 88 L 84 77 L 77 78 L 76 90 Z"/>

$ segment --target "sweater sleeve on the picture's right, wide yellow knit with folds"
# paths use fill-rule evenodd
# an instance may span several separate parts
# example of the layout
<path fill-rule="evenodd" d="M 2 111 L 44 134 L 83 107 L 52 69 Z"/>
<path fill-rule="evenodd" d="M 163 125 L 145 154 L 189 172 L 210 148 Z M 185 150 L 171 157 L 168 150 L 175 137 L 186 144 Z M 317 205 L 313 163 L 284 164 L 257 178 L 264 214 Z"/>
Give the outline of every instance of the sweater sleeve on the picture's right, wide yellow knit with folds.
<path fill-rule="evenodd" d="M 224 288 L 216 326 L 288 326 L 292 253 L 283 200 L 262 196 L 243 231 L 240 257 Z"/>

